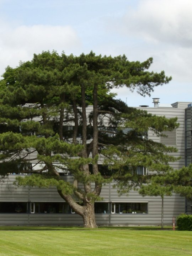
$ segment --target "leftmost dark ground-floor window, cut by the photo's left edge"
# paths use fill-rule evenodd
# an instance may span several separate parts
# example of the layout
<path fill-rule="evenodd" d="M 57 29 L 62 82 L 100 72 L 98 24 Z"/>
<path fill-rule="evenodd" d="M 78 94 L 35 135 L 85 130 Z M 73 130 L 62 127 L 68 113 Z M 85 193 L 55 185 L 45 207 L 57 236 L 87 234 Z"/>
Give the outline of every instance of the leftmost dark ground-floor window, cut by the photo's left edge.
<path fill-rule="evenodd" d="M 27 202 L 0 202 L 0 213 L 27 213 Z"/>

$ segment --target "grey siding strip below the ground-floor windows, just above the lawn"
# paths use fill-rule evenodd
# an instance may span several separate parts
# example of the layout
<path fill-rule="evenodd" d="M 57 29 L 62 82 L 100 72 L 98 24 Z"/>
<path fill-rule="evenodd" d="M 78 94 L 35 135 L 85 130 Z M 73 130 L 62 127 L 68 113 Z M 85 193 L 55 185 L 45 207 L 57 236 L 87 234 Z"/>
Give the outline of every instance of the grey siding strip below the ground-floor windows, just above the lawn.
<path fill-rule="evenodd" d="M 178 214 L 180 214 L 178 212 Z M 171 225 L 178 214 L 164 212 L 164 224 Z M 96 214 L 97 225 L 160 225 L 161 214 Z M 0 225 L 83 225 L 78 214 L 0 214 Z"/>

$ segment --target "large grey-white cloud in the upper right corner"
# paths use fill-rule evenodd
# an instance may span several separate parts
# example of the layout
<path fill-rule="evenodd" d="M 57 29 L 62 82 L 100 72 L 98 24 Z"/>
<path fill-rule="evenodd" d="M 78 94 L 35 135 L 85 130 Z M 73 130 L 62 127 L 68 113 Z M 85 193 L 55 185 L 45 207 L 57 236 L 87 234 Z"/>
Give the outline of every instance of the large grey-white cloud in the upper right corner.
<path fill-rule="evenodd" d="M 191 0 L 140 0 L 137 9 L 124 15 L 123 31 L 147 41 L 191 47 L 191 10 Z"/>

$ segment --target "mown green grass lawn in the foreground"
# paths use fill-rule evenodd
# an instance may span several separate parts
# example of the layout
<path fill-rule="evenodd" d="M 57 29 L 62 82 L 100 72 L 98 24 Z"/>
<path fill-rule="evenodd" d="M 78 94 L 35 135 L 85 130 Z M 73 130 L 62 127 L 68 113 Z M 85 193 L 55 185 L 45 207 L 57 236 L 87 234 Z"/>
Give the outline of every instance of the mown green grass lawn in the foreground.
<path fill-rule="evenodd" d="M 186 256 L 192 231 L 159 228 L 0 226 L 0 256 Z"/>

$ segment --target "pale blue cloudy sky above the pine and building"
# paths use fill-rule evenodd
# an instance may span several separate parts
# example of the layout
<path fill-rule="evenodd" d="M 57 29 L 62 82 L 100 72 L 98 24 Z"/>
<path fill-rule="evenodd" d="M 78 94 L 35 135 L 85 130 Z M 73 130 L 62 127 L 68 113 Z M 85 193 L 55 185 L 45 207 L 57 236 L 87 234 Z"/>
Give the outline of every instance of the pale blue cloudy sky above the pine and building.
<path fill-rule="evenodd" d="M 150 71 L 164 70 L 171 82 L 150 97 L 116 89 L 117 98 L 133 107 L 156 97 L 192 102 L 191 0 L 0 0 L 0 74 L 47 50 L 153 57 Z"/>

